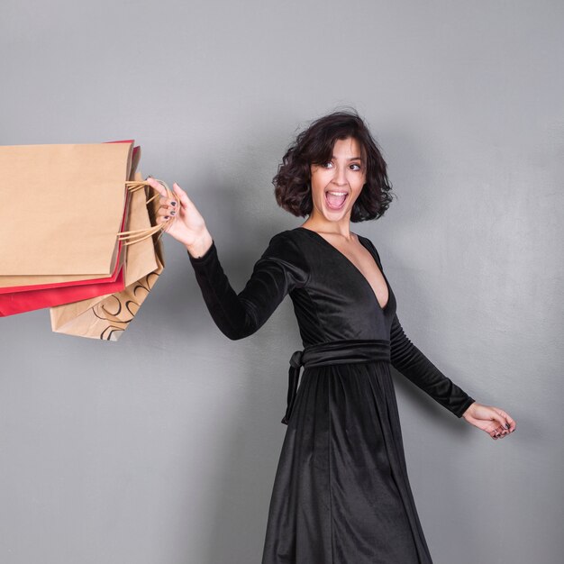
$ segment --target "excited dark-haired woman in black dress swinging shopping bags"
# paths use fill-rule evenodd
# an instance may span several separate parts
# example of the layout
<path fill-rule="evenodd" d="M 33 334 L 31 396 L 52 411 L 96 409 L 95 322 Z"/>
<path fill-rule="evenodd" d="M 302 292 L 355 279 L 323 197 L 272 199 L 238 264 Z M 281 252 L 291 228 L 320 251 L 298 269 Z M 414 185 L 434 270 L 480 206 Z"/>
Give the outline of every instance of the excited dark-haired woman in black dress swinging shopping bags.
<path fill-rule="evenodd" d="M 278 205 L 305 223 L 279 232 L 241 293 L 223 273 L 204 218 L 176 183 L 161 186 L 159 223 L 186 245 L 214 322 L 230 339 L 265 323 L 289 294 L 305 349 L 290 360 L 287 423 L 268 511 L 262 564 L 429 564 L 407 477 L 390 364 L 452 414 L 493 439 L 514 432 L 405 336 L 396 297 L 368 238 L 350 222 L 391 202 L 387 166 L 355 112 L 315 121 L 273 181 Z M 300 367 L 305 370 L 297 387 Z"/>

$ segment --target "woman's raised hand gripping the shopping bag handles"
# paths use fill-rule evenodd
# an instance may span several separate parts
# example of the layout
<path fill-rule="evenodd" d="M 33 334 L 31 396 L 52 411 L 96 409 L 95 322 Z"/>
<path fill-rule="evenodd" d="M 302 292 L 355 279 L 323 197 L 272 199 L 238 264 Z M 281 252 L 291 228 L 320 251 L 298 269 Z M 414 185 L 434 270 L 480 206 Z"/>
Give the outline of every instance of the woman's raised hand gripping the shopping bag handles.
<path fill-rule="evenodd" d="M 176 198 L 169 198 L 167 190 L 155 178 L 148 177 L 147 182 L 160 194 L 160 207 L 157 223 L 174 220 L 163 229 L 177 241 L 183 243 L 193 257 L 201 257 L 212 246 L 212 236 L 207 231 L 204 218 L 190 200 L 186 192 L 175 182 L 172 185 Z"/>

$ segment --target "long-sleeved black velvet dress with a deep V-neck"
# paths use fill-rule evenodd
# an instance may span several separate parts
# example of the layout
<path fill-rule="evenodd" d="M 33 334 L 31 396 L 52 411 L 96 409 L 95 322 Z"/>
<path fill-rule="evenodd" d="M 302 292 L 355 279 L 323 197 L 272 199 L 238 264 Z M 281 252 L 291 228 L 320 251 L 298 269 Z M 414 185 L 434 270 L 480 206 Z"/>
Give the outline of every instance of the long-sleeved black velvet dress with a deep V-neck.
<path fill-rule="evenodd" d="M 384 274 L 372 242 L 360 235 L 359 241 Z M 287 432 L 262 564 L 431 564 L 390 364 L 458 417 L 474 399 L 405 336 L 386 275 L 382 307 L 359 268 L 305 227 L 272 237 L 239 294 L 214 242 L 204 256 L 188 256 L 227 337 L 256 332 L 289 294 L 305 347 L 289 369 Z"/>

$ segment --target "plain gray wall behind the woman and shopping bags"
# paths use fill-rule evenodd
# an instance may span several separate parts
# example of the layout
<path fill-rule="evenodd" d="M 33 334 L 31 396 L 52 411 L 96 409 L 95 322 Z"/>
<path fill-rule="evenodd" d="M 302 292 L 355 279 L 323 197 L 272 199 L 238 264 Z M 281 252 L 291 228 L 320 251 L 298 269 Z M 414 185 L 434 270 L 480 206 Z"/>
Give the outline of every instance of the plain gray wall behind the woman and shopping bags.
<path fill-rule="evenodd" d="M 268 238 L 304 221 L 273 198 L 287 143 L 355 106 L 398 198 L 353 231 L 376 244 L 412 341 L 517 422 L 492 441 L 395 375 L 433 559 L 557 564 L 563 24 L 561 2 L 538 0 L 4 0 L 0 142 L 134 137 L 142 173 L 186 188 L 241 290 Z M 25 222 L 18 189 L 2 205 Z M 117 343 L 51 333 L 48 310 L 0 320 L 3 563 L 259 562 L 301 347 L 291 302 L 228 341 L 165 244 Z"/>

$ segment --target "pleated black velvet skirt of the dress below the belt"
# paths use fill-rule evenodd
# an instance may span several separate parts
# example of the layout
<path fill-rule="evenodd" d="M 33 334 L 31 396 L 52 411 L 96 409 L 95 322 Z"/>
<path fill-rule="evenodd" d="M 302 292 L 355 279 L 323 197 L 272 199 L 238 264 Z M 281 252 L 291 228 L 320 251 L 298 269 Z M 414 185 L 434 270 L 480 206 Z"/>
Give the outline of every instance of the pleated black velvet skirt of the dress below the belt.
<path fill-rule="evenodd" d="M 261 564 L 431 564 L 389 362 L 305 368 Z"/>

